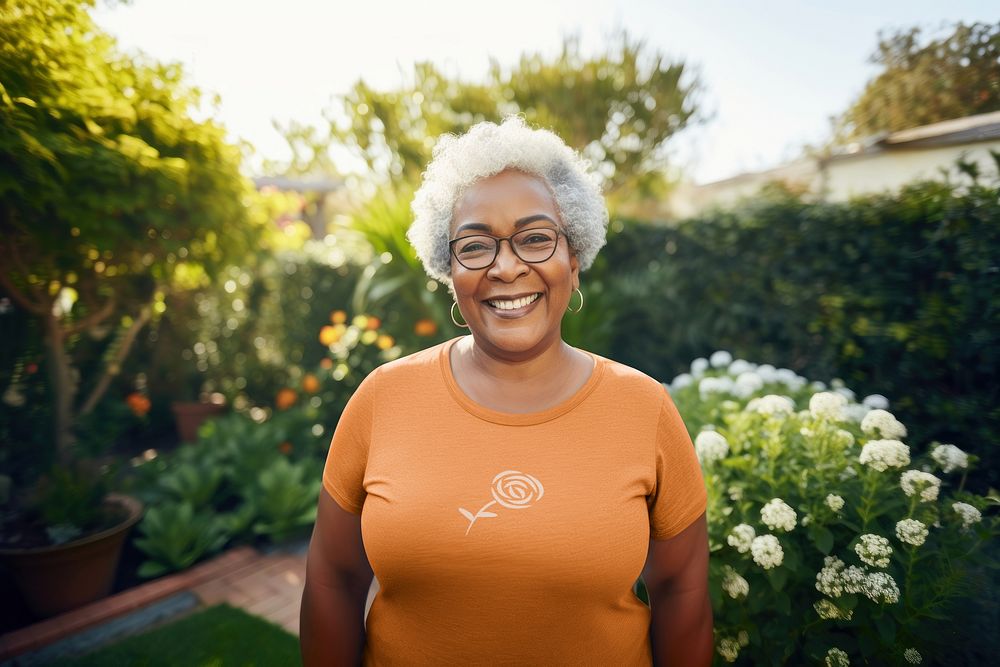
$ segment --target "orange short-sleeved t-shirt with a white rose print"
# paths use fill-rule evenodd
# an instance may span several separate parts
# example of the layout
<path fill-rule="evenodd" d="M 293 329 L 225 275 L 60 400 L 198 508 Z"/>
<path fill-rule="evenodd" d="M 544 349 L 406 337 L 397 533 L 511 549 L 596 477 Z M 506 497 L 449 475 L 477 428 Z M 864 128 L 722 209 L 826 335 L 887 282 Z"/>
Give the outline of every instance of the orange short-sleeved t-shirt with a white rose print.
<path fill-rule="evenodd" d="M 380 585 L 364 664 L 650 664 L 632 586 L 650 537 L 706 505 L 673 401 L 588 353 L 570 399 L 497 412 L 455 382 L 456 340 L 365 378 L 330 446 L 323 486 L 361 514 Z"/>

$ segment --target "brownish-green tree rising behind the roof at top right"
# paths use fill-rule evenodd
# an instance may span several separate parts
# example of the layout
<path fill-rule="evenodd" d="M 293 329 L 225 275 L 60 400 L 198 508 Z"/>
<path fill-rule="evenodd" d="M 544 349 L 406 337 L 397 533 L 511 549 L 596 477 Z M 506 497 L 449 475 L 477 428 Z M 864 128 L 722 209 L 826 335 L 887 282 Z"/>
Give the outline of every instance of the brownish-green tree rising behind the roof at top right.
<path fill-rule="evenodd" d="M 1000 110 L 1000 22 L 926 43 L 920 28 L 880 34 L 871 62 L 882 71 L 838 120 L 838 143 Z"/>

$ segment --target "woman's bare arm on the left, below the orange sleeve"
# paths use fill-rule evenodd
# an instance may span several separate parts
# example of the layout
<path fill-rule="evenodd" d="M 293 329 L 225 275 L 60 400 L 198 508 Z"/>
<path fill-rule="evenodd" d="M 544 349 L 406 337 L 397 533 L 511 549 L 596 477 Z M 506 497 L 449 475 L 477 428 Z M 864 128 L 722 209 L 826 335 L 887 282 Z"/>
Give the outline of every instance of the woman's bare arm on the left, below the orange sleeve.
<path fill-rule="evenodd" d="M 361 664 L 365 597 L 371 580 L 361 517 L 342 509 L 321 490 L 299 617 L 304 667 Z"/>

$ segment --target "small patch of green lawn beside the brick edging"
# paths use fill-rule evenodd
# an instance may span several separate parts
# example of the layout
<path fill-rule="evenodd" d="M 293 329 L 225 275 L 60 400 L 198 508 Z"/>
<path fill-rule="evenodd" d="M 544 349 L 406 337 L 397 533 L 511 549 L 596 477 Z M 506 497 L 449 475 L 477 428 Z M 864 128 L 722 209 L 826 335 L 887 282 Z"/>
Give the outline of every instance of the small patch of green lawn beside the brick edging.
<path fill-rule="evenodd" d="M 299 665 L 299 640 L 229 605 L 209 607 L 179 621 L 74 660 L 67 667 L 281 667 Z"/>

